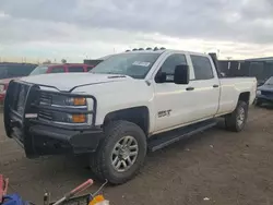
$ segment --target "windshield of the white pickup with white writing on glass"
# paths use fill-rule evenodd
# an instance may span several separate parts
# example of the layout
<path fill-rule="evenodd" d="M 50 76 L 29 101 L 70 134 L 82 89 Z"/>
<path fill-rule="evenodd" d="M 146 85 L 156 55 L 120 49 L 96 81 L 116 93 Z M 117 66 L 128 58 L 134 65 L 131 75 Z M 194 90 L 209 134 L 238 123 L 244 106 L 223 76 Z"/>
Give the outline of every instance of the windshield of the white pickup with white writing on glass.
<path fill-rule="evenodd" d="M 122 74 L 144 79 L 161 53 L 128 52 L 114 55 L 96 65 L 91 73 Z"/>

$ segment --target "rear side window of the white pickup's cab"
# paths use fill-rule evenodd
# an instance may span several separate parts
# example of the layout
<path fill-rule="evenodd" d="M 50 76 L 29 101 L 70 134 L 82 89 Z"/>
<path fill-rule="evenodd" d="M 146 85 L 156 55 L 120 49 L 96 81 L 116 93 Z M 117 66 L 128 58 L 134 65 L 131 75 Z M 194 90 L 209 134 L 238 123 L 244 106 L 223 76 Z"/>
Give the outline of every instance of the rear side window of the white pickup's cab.
<path fill-rule="evenodd" d="M 202 56 L 190 56 L 195 80 L 213 79 L 212 64 L 209 58 Z"/>

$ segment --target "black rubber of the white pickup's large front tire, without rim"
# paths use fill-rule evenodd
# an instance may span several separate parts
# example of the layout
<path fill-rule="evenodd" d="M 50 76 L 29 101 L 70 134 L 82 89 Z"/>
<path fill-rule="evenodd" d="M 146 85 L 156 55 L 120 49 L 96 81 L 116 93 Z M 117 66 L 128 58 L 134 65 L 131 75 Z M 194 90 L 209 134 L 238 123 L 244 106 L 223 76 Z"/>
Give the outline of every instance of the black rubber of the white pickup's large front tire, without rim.
<path fill-rule="evenodd" d="M 112 149 L 124 136 L 132 136 L 138 142 L 138 155 L 134 164 L 122 172 L 115 169 Z M 132 179 L 140 170 L 146 156 L 146 136 L 143 130 L 128 121 L 114 121 L 105 128 L 105 138 L 98 149 L 91 156 L 91 169 L 100 179 L 107 179 L 111 184 L 121 184 Z"/>

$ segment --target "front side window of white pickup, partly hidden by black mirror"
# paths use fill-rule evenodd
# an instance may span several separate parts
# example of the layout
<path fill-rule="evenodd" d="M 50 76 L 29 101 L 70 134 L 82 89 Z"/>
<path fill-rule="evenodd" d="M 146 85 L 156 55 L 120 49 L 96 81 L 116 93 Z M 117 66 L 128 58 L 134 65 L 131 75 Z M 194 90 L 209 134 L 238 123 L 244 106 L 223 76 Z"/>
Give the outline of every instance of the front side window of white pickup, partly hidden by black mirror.
<path fill-rule="evenodd" d="M 167 82 L 173 82 L 175 75 L 175 69 L 179 64 L 187 64 L 185 55 L 180 53 L 171 55 L 162 64 L 162 68 L 158 71 L 158 73 L 166 73 Z"/>

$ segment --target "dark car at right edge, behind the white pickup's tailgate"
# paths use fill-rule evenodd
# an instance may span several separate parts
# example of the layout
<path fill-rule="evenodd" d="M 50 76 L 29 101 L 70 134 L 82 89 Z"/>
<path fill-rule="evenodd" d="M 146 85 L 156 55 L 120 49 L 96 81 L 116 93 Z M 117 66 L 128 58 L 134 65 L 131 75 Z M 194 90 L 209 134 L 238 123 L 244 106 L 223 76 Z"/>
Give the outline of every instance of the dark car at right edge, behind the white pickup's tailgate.
<path fill-rule="evenodd" d="M 261 106 L 263 102 L 273 102 L 273 76 L 257 89 L 256 105 Z"/>

